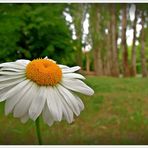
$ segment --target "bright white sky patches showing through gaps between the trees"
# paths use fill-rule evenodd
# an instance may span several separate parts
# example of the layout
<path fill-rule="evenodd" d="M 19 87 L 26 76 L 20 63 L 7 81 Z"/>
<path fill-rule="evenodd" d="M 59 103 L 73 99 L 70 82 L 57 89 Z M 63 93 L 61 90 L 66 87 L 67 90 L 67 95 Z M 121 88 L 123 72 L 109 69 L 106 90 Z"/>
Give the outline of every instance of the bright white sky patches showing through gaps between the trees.
<path fill-rule="evenodd" d="M 64 12 L 64 15 L 65 15 L 65 19 L 66 19 L 67 22 L 70 22 L 70 23 L 73 22 L 72 17 L 71 17 L 71 15 L 69 13 Z M 130 17 L 130 20 L 133 22 L 134 21 L 134 18 L 135 18 L 135 5 L 134 4 L 132 4 L 131 7 L 130 7 L 129 17 Z M 136 25 L 136 31 L 137 31 L 136 36 L 137 37 L 139 37 L 140 30 L 142 28 L 142 26 L 140 25 L 140 21 L 141 20 L 138 19 L 137 25 Z M 71 24 L 70 25 L 70 29 L 72 30 L 72 39 L 73 40 L 77 39 L 74 24 Z M 119 26 L 119 30 L 121 30 L 121 29 L 122 29 L 122 27 Z M 108 33 L 108 30 L 107 29 L 105 29 L 104 31 L 105 31 L 105 33 Z M 86 18 L 85 18 L 85 20 L 83 22 L 82 43 L 85 42 L 85 39 L 86 39 L 86 37 L 87 37 L 88 34 L 89 34 L 89 14 L 87 13 L 86 14 Z M 126 30 L 126 37 L 127 37 L 127 45 L 128 46 L 131 46 L 132 45 L 132 40 L 133 40 L 133 29 L 127 28 L 127 30 Z M 121 38 L 118 38 L 117 44 L 118 45 L 121 44 Z M 136 41 L 136 45 L 138 45 L 138 44 L 139 44 L 138 41 Z M 86 51 L 91 50 L 91 46 L 90 45 L 86 46 L 86 49 L 85 50 Z"/>

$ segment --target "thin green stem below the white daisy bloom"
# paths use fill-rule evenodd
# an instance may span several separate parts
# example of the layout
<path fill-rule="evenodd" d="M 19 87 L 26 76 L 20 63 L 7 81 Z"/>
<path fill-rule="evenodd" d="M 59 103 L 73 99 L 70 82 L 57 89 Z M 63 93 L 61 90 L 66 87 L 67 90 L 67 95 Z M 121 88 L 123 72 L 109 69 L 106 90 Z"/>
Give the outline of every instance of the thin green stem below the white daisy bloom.
<path fill-rule="evenodd" d="M 37 137 L 38 137 L 38 143 L 39 143 L 39 145 L 42 145 L 41 130 L 40 130 L 40 119 L 39 119 L 39 117 L 35 121 L 35 126 L 36 126 L 36 134 L 37 134 Z"/>

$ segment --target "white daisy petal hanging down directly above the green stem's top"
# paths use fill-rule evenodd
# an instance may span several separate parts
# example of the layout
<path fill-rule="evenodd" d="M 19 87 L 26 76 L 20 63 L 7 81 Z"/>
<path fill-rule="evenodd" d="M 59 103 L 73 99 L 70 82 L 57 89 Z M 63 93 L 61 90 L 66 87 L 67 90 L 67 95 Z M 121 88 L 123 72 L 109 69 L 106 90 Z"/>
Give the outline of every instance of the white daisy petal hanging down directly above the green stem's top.
<path fill-rule="evenodd" d="M 29 108 L 29 116 L 34 121 L 41 114 L 47 97 L 46 95 L 47 88 L 45 86 L 41 86 L 38 89 L 34 90 L 38 94 L 37 97 L 33 99 L 31 106 Z"/>

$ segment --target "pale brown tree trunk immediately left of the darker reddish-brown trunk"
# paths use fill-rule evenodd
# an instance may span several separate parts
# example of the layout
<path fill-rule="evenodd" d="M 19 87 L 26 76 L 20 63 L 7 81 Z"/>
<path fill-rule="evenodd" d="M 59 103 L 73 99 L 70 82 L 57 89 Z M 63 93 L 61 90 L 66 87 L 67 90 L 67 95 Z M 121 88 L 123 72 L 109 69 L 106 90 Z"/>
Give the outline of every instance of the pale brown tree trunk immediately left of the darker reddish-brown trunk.
<path fill-rule="evenodd" d="M 112 76 L 119 76 L 118 51 L 117 51 L 117 22 L 115 4 L 111 4 L 111 36 L 112 36 Z"/>

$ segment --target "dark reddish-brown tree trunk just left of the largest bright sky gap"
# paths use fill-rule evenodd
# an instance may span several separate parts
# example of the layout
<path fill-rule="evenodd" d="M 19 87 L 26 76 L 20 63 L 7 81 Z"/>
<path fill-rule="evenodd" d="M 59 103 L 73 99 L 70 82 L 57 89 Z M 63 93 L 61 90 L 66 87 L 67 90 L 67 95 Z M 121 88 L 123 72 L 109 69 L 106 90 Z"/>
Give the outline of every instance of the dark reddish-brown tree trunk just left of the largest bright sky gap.
<path fill-rule="evenodd" d="M 128 49 L 126 44 L 126 26 L 127 26 L 127 17 L 126 17 L 126 4 L 123 5 L 122 10 L 122 49 L 123 49 L 123 76 L 129 76 L 129 64 L 128 64 Z"/>

